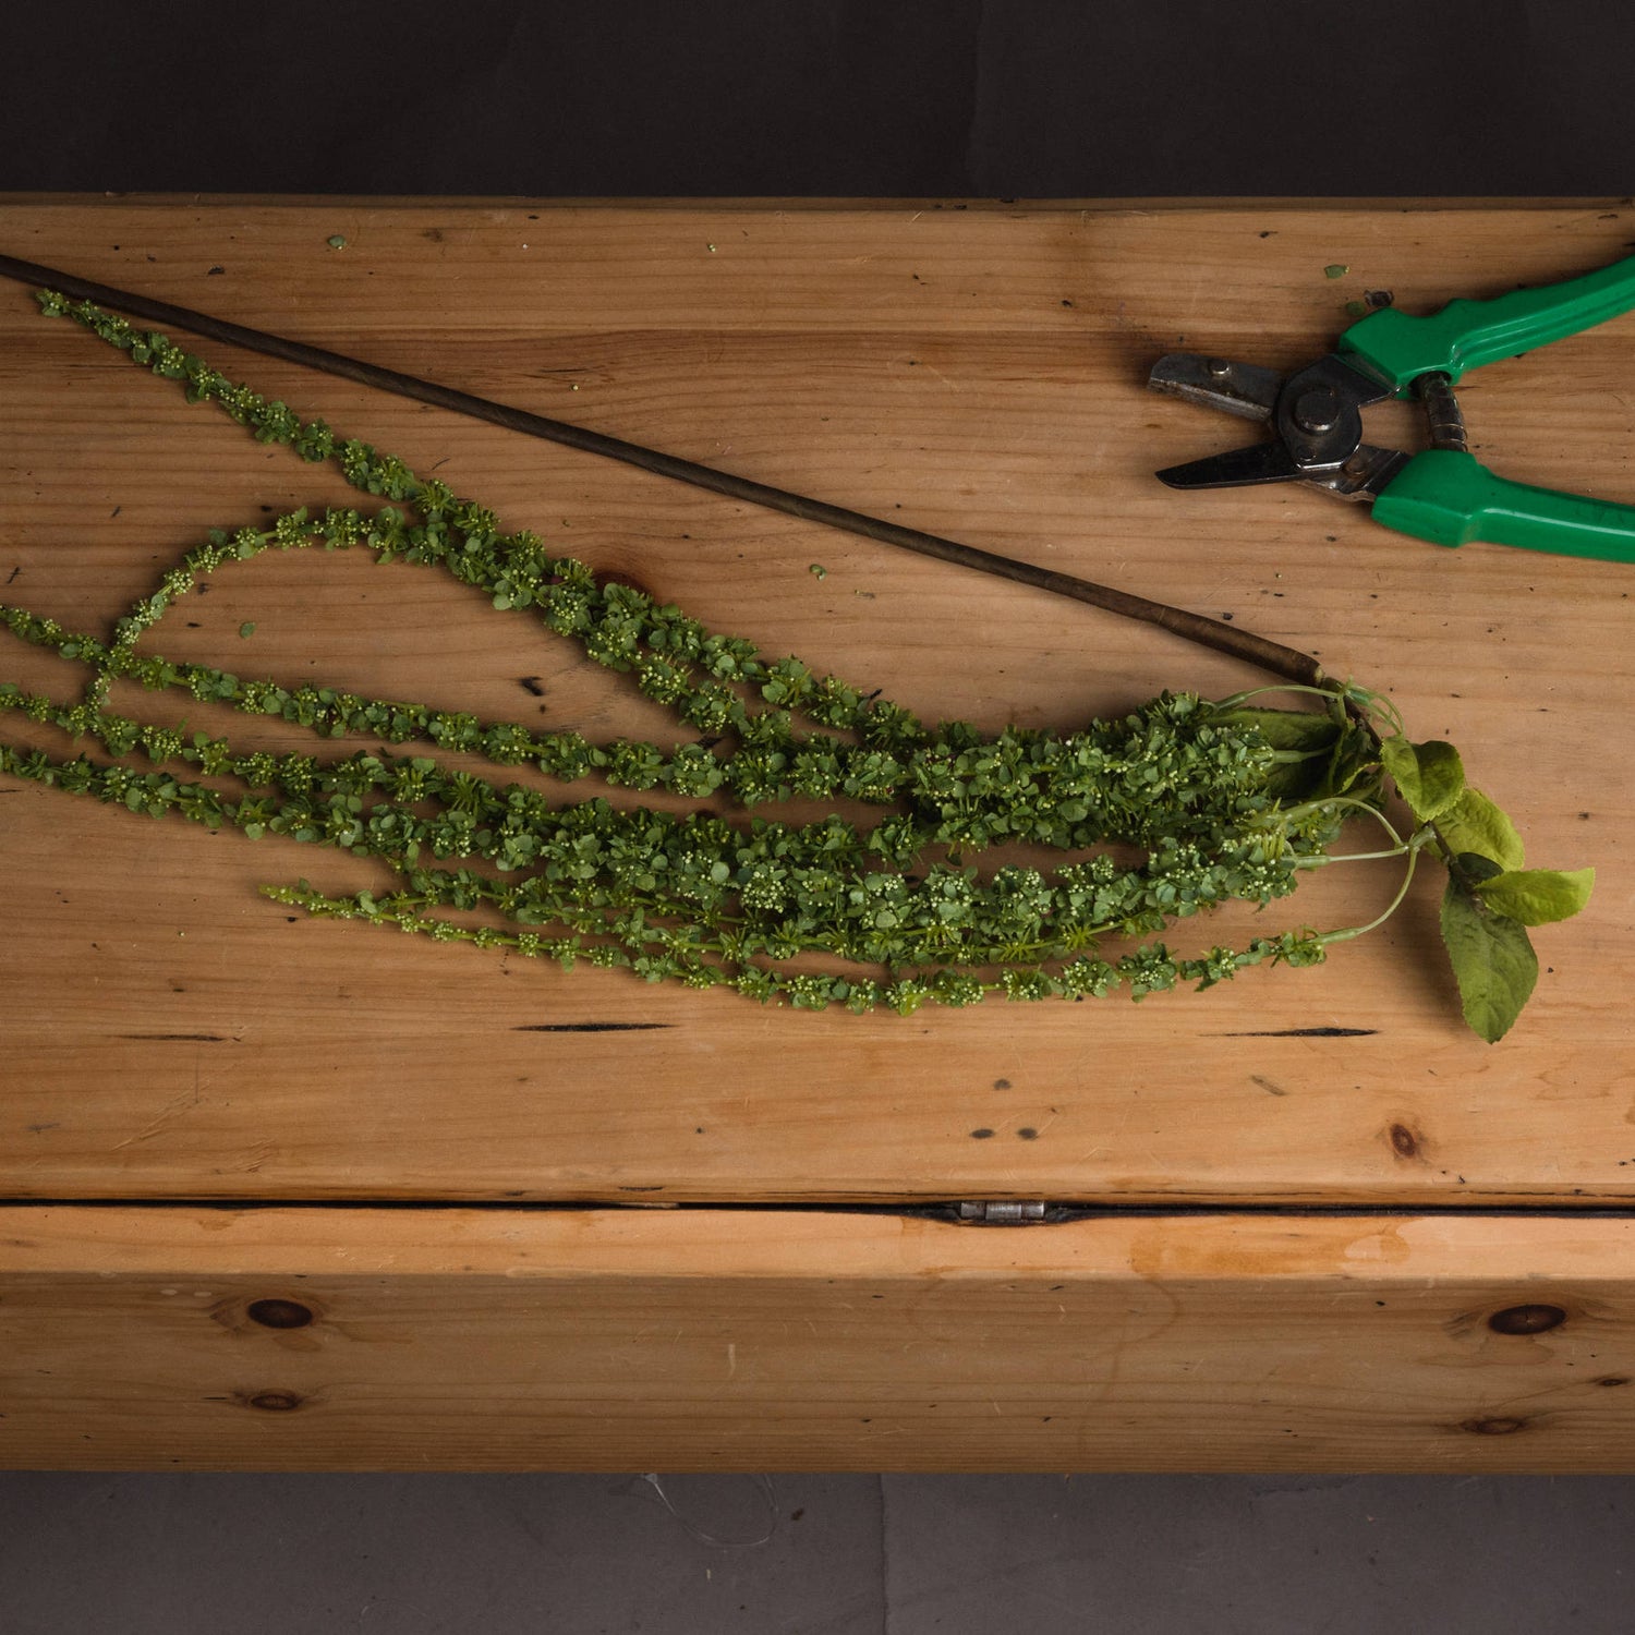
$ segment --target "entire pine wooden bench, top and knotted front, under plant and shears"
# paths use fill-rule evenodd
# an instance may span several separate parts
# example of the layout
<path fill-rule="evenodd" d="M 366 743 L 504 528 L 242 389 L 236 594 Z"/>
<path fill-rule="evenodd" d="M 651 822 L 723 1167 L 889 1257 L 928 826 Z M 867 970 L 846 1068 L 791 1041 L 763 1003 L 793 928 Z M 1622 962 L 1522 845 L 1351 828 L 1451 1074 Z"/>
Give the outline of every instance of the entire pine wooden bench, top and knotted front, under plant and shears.
<path fill-rule="evenodd" d="M 257 883 L 371 871 L 0 780 L 0 1467 L 1635 1468 L 1635 569 L 1447 551 L 1298 486 L 1174 494 L 1154 468 L 1243 428 L 1143 391 L 1166 350 L 1308 361 L 1370 289 L 1426 311 L 1553 281 L 1632 227 L 1627 204 L 0 204 L 0 252 L 1313 651 L 1458 744 L 1530 862 L 1599 870 L 1589 911 L 1535 934 L 1539 992 L 1498 1046 L 1458 1019 L 1429 883 L 1318 970 L 860 1019 L 291 922 Z M 932 718 L 1071 728 L 1254 682 L 199 350 Z M 1635 319 L 1472 376 L 1480 458 L 1635 500 L 1632 379 Z M 350 495 L 21 286 L 0 473 L 5 598 L 103 633 L 206 528 Z M 665 729 L 528 616 L 497 641 L 445 576 L 355 556 L 222 569 L 164 651 Z M 67 685 L 0 652 L 0 679 Z M 1390 863 L 1329 870 L 1297 917 L 1393 889 Z M 961 1226 L 965 1200 L 1068 1218 Z"/>

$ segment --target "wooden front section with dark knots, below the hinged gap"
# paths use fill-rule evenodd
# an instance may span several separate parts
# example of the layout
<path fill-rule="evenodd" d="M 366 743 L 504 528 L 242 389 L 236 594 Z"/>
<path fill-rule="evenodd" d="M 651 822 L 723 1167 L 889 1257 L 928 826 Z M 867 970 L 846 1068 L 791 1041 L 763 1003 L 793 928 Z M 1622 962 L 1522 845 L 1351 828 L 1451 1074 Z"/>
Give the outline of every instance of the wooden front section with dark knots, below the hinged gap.
<path fill-rule="evenodd" d="M 1630 1472 L 1632 1251 L 1571 1216 L 15 1207 L 0 1467 Z"/>

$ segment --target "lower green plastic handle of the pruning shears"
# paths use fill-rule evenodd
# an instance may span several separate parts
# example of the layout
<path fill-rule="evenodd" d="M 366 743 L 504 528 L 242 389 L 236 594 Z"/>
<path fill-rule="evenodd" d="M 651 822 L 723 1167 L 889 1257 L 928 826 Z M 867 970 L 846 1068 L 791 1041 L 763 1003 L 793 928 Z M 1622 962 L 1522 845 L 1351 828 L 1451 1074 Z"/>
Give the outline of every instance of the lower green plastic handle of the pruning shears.
<path fill-rule="evenodd" d="M 1486 540 L 1635 562 L 1635 505 L 1507 482 L 1452 448 L 1414 455 L 1373 502 L 1373 520 L 1436 544 Z"/>

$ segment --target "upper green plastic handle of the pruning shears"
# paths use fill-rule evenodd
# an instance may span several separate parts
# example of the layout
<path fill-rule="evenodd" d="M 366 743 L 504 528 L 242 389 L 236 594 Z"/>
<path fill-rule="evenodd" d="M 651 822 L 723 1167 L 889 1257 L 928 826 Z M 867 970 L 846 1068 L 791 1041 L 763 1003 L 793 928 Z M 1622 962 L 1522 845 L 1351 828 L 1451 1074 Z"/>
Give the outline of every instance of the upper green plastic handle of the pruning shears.
<path fill-rule="evenodd" d="M 1449 301 L 1413 317 L 1396 307 L 1370 312 L 1339 338 L 1372 374 L 1406 394 L 1419 374 L 1458 379 L 1467 370 L 1545 347 L 1635 307 L 1635 255 L 1543 289 L 1512 289 L 1491 301 Z"/>

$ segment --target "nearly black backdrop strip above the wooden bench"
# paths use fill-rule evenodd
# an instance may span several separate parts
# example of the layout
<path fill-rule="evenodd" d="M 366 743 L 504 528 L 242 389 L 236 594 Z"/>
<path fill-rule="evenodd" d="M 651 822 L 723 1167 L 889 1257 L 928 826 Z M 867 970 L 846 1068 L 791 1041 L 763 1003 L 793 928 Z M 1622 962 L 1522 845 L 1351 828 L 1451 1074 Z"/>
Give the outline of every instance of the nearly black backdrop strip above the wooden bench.
<path fill-rule="evenodd" d="M 0 190 L 1635 188 L 1614 0 L 11 0 Z"/>

